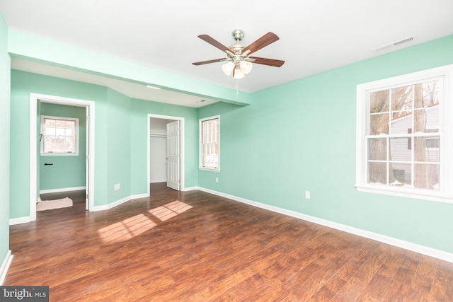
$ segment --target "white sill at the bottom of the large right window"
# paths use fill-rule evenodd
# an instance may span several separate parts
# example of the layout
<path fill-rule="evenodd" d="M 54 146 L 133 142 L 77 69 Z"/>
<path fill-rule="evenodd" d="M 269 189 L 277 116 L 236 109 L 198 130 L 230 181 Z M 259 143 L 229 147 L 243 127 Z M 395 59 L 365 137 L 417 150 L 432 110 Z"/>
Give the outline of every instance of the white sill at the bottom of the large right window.
<path fill-rule="evenodd" d="M 381 186 L 372 186 L 372 185 L 355 185 L 355 188 L 359 192 L 367 192 L 367 193 L 374 193 L 374 194 L 384 194 L 389 196 L 395 197 L 406 197 L 406 198 L 413 198 L 413 199 L 422 199 L 422 200 L 429 200 L 432 202 L 445 202 L 449 204 L 453 204 L 453 197 L 447 196 L 446 194 L 442 194 L 442 192 L 437 191 L 429 191 L 429 190 L 419 190 L 418 192 L 413 192 L 410 190 L 404 190 L 403 188 L 398 187 L 386 187 L 384 185 Z"/>

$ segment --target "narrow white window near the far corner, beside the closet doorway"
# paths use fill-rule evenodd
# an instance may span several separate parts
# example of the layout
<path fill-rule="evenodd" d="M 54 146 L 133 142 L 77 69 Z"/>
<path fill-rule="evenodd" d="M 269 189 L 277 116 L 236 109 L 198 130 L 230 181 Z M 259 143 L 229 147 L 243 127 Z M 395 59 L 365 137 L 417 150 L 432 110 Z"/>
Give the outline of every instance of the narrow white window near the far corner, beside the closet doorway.
<path fill-rule="evenodd" d="M 220 117 L 207 117 L 200 120 L 200 168 L 220 170 Z"/>

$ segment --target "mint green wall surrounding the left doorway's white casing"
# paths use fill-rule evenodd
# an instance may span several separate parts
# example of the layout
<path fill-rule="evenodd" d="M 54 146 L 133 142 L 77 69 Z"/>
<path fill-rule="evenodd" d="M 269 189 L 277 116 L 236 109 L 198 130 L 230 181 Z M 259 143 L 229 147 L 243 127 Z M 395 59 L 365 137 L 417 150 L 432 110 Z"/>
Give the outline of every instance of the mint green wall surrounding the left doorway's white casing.
<path fill-rule="evenodd" d="M 50 76 L 30 74 L 28 72 L 11 70 L 11 202 L 10 219 L 26 217 L 30 212 L 30 93 L 42 93 L 47 95 L 59 95 L 68 98 L 96 101 L 96 125 L 107 124 L 107 112 L 103 110 L 106 103 L 107 92 L 105 87 L 67 81 Z M 98 127 L 101 128 L 102 127 Z M 98 129 L 96 128 L 96 134 Z M 97 135 L 96 158 L 102 158 L 106 152 L 106 137 L 102 132 Z M 106 202 L 106 178 L 107 163 L 96 162 L 95 202 Z M 38 167 L 39 168 L 39 167 Z M 39 173 L 39 172 L 38 172 Z"/>

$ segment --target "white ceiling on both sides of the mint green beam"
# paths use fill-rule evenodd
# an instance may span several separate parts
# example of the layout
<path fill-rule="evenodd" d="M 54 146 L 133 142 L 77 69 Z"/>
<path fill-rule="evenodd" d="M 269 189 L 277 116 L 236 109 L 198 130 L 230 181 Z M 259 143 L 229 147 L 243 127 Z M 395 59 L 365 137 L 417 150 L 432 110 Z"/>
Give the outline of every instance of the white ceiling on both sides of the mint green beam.
<path fill-rule="evenodd" d="M 253 55 L 283 59 L 285 64 L 255 64 L 239 80 L 239 90 L 246 92 L 453 34 L 452 0 L 0 0 L 0 11 L 8 28 L 229 88 L 235 88 L 235 81 L 223 74 L 222 63 L 191 64 L 225 57 L 197 35 L 210 35 L 228 46 L 234 42 L 231 32 L 239 28 L 246 33 L 243 45 L 248 45 L 272 31 L 280 40 Z M 412 42 L 374 50 L 411 36 Z M 89 83 L 108 81 L 103 85 L 132 98 L 193 107 L 214 102 L 201 103 L 191 96 L 185 103 L 185 96 L 162 90 L 149 97 L 149 90 L 137 83 L 55 66 L 21 60 L 13 60 L 12 66 Z"/>

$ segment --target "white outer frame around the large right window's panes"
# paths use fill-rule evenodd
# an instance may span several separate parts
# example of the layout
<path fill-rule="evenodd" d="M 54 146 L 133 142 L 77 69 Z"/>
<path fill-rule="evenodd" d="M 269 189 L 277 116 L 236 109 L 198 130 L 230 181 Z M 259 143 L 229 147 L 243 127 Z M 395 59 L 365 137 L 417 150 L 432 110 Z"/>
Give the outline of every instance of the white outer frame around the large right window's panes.
<path fill-rule="evenodd" d="M 369 92 L 393 86 L 404 86 L 425 79 L 441 78 L 439 132 L 440 132 L 440 187 L 439 190 L 424 190 L 390 185 L 367 183 L 367 121 L 369 115 Z M 435 202 L 453 203 L 453 64 L 418 71 L 389 79 L 357 85 L 357 128 L 356 128 L 356 175 L 355 187 L 360 192 L 409 197 Z M 382 134 L 385 137 L 385 134 Z"/>

